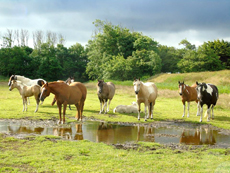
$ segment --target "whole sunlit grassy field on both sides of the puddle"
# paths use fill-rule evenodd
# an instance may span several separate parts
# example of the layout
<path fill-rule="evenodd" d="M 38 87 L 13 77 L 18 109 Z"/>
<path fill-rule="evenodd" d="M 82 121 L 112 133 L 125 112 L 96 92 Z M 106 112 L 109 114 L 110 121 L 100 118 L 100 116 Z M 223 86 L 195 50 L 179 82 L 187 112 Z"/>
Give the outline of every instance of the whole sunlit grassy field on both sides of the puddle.
<path fill-rule="evenodd" d="M 186 84 L 209 82 L 220 88 L 220 98 L 214 109 L 215 119 L 203 124 L 230 129 L 230 71 L 161 74 L 150 79 L 156 83 L 159 93 L 154 108 L 157 121 L 185 121 L 199 123 L 196 104 L 191 103 L 190 117 L 182 118 L 183 106 L 178 94 L 178 80 Z M 27 112 L 22 112 L 19 92 L 9 91 L 7 82 L 0 82 L 0 119 L 46 120 L 58 118 L 57 106 L 51 106 L 50 95 L 39 106 L 37 113 L 34 98 L 30 98 Z M 109 122 L 146 123 L 144 114 L 137 120 L 136 114 L 112 113 L 117 105 L 135 101 L 132 81 L 117 82 L 116 94 L 111 102 L 110 112 L 99 115 L 100 104 L 96 95 L 96 82 L 86 83 L 88 95 L 83 115 Z M 143 106 L 142 106 L 142 110 Z M 75 121 L 76 109 L 67 110 L 67 124 Z M 227 172 L 230 170 L 230 150 L 213 149 L 208 146 L 194 149 L 192 146 L 172 149 L 156 143 L 139 142 L 136 149 L 116 149 L 103 143 L 89 141 L 63 141 L 52 136 L 15 139 L 0 134 L 0 172 Z"/>

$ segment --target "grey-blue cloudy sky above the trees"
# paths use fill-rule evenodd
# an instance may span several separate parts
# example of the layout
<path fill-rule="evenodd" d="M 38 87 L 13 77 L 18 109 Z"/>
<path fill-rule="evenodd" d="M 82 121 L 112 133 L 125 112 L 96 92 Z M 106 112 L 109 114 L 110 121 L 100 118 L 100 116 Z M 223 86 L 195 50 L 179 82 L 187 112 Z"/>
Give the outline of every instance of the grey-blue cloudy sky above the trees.
<path fill-rule="evenodd" d="M 65 46 L 87 44 L 96 19 L 179 47 L 230 41 L 230 0 L 0 0 L 0 36 L 7 29 L 61 33 Z"/>

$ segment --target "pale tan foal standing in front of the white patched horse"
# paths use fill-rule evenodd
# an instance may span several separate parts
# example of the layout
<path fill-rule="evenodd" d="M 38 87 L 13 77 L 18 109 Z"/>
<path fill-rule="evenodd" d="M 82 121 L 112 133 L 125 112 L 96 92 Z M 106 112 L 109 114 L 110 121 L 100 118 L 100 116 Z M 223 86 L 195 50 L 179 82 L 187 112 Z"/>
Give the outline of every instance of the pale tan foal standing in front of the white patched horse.
<path fill-rule="evenodd" d="M 24 112 L 25 107 L 27 111 L 27 97 L 31 97 L 34 95 L 36 103 L 37 103 L 37 107 L 34 112 L 37 112 L 39 102 L 40 102 L 39 96 L 41 93 L 41 90 L 40 90 L 41 87 L 39 85 L 27 86 L 20 81 L 13 80 L 10 84 L 9 90 L 12 91 L 14 88 L 17 88 L 20 95 L 22 96 L 22 100 L 23 100 L 23 110 L 22 111 Z"/>

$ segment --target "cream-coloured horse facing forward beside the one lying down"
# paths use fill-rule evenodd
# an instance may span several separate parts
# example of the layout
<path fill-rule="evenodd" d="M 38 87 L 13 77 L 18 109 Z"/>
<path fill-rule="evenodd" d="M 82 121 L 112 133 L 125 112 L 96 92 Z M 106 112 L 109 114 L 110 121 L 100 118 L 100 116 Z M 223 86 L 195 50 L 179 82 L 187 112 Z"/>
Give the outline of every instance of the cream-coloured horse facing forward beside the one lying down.
<path fill-rule="evenodd" d="M 155 101 L 157 99 L 157 87 L 152 82 L 143 83 L 139 79 L 134 79 L 133 82 L 134 91 L 136 94 L 136 102 L 138 108 L 138 120 L 140 120 L 140 111 L 141 111 L 141 103 L 145 104 L 145 121 L 151 115 L 151 119 L 153 119 L 153 109 L 155 105 Z M 148 115 L 147 115 L 147 107 L 148 107 Z"/>

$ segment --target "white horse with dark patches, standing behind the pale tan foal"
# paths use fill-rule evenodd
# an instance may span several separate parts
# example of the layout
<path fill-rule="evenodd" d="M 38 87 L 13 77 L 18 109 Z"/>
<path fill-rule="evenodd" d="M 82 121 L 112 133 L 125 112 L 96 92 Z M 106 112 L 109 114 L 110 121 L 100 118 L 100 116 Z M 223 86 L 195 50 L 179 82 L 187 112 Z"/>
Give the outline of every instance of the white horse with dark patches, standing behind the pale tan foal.
<path fill-rule="evenodd" d="M 13 80 L 21 81 L 22 84 L 25 84 L 27 86 L 39 85 L 41 87 L 43 84 L 46 83 L 46 81 L 44 79 L 29 79 L 27 77 L 20 76 L 20 75 L 12 75 L 12 76 L 10 76 L 8 86 L 11 85 Z M 28 104 L 29 103 L 30 103 L 30 100 L 28 98 Z M 42 104 L 42 102 L 41 102 L 41 104 Z"/>

